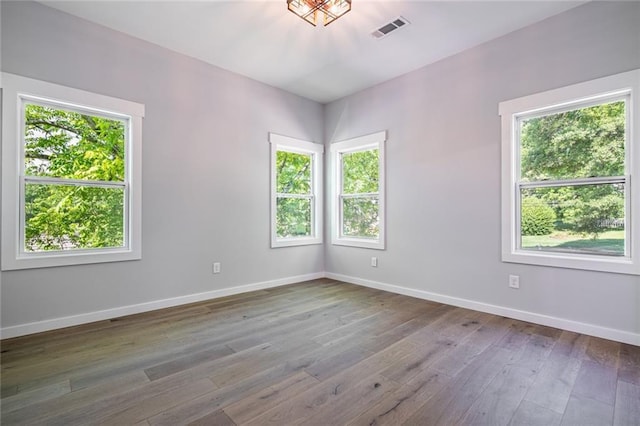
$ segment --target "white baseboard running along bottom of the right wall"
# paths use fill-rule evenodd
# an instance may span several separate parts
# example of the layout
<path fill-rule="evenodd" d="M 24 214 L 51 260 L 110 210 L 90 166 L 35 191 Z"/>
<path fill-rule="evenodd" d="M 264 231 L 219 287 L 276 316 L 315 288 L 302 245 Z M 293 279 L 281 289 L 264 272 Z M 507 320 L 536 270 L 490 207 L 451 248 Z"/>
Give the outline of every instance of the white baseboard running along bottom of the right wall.
<path fill-rule="evenodd" d="M 332 272 L 325 273 L 327 278 L 338 281 L 344 281 L 351 284 L 357 284 L 364 287 L 371 287 L 378 290 L 385 290 L 392 293 L 404 294 L 405 296 L 416 297 L 433 302 L 444 303 L 447 305 L 458 306 L 461 308 L 473 309 L 475 311 L 486 312 L 489 314 L 500 315 L 522 321 L 528 321 L 535 324 L 546 325 L 549 327 L 560 328 L 562 330 L 574 331 L 576 333 L 586 334 L 589 336 L 601 337 L 603 339 L 615 340 L 617 342 L 628 343 L 630 345 L 640 346 L 640 334 L 628 331 L 617 330 L 613 328 L 601 327 L 598 325 L 587 324 L 578 321 L 572 321 L 565 318 L 552 317 L 548 315 L 537 314 L 535 312 L 521 311 L 518 309 L 506 308 L 504 306 L 491 305 L 488 303 L 476 302 L 458 297 L 446 296 L 438 293 L 431 293 L 423 290 L 416 290 L 407 287 L 401 287 L 393 284 L 381 283 L 362 278 L 350 277 L 347 275 L 334 274 Z"/>

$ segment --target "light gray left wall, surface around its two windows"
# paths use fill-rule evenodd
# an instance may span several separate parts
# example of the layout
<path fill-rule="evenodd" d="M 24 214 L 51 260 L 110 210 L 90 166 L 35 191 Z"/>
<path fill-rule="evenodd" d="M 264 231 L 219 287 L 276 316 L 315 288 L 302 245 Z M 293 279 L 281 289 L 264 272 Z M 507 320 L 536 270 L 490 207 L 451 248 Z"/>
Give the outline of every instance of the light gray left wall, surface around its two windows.
<path fill-rule="evenodd" d="M 2 70 L 146 106 L 143 259 L 2 272 L 2 327 L 324 270 L 269 248 L 267 139 L 321 142 L 322 105 L 29 2 L 2 2 Z"/>

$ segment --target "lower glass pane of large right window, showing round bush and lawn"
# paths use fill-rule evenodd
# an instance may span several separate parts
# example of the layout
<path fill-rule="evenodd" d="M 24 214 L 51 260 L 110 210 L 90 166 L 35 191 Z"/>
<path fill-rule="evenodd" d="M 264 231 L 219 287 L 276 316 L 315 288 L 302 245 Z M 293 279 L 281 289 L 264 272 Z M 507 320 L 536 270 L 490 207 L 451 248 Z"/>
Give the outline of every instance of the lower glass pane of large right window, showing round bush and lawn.
<path fill-rule="evenodd" d="M 522 189 L 522 248 L 624 256 L 623 184 Z"/>

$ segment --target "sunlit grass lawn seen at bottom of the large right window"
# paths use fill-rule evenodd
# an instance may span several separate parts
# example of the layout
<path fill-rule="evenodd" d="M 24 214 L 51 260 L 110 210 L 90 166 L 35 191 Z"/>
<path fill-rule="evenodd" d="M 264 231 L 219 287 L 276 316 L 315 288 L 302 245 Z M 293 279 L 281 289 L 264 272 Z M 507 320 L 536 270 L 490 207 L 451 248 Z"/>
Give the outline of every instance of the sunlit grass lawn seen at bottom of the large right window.
<path fill-rule="evenodd" d="M 566 231 L 554 231 L 550 235 L 523 235 L 522 248 L 624 256 L 624 230 L 603 232 L 595 240 L 589 235 Z"/>

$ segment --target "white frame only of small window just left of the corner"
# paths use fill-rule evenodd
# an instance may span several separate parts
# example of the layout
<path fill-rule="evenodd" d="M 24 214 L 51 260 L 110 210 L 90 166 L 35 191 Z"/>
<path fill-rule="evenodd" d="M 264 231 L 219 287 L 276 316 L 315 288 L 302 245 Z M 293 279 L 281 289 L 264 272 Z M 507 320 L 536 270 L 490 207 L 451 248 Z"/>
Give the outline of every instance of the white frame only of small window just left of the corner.
<path fill-rule="evenodd" d="M 323 154 L 321 144 L 301 139 L 269 133 L 271 144 L 271 247 L 291 247 L 323 242 Z M 278 198 L 299 195 L 278 194 L 277 192 L 277 153 L 278 151 L 294 152 L 311 156 L 311 194 L 300 196 L 311 201 L 311 235 L 300 237 L 278 237 L 277 208 Z"/>

